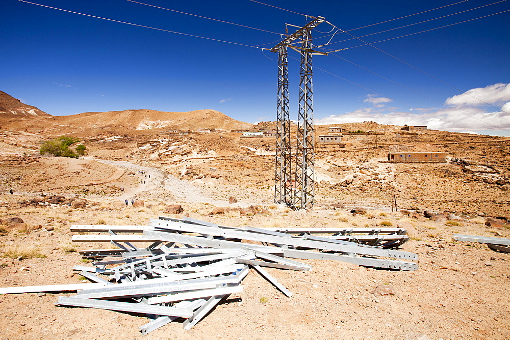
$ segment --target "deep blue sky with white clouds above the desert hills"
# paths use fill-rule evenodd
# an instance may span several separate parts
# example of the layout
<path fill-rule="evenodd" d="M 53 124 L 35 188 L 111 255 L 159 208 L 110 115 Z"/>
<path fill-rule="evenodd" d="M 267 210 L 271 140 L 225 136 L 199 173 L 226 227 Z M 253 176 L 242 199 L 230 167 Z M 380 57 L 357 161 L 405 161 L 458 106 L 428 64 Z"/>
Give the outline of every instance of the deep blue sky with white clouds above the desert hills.
<path fill-rule="evenodd" d="M 301 14 L 323 16 L 336 28 L 319 25 L 314 44 L 341 29 L 348 33 L 338 31 L 336 43 L 323 48 L 347 49 L 314 56 L 316 123 L 372 120 L 510 135 L 510 12 L 495 14 L 510 10 L 510 1 L 262 1 L 296 14 L 250 0 L 140 0 L 270 32 L 127 0 L 31 2 L 259 47 L 274 46 L 286 23 L 310 20 Z M 0 9 L 0 90 L 51 115 L 215 109 L 250 123 L 275 120 L 275 53 L 17 0 L 3 0 Z M 299 54 L 289 57 L 297 118 Z"/>

